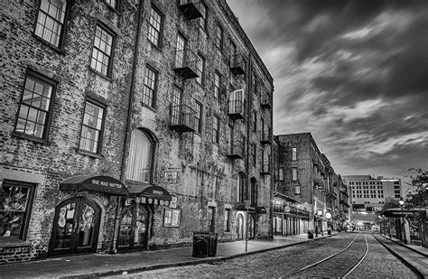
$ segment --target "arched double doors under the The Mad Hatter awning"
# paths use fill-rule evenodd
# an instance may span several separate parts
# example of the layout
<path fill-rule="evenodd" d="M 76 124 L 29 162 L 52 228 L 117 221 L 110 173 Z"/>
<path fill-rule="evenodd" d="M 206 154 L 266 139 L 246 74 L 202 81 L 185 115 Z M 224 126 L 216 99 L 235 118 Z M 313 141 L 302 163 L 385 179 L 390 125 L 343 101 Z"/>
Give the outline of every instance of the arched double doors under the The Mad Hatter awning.
<path fill-rule="evenodd" d="M 101 209 L 84 197 L 62 201 L 55 208 L 50 255 L 95 253 Z"/>

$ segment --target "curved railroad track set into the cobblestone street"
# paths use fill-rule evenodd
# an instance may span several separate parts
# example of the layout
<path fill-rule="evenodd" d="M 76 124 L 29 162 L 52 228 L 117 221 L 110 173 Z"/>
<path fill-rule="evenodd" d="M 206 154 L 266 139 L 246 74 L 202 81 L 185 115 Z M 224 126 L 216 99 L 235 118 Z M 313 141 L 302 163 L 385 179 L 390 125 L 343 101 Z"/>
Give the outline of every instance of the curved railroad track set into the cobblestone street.
<path fill-rule="evenodd" d="M 331 256 L 327 256 L 311 265 L 288 274 L 288 276 L 317 276 L 317 277 L 342 277 L 346 278 L 368 256 L 367 235 L 358 233 L 356 237 L 344 249 Z"/>

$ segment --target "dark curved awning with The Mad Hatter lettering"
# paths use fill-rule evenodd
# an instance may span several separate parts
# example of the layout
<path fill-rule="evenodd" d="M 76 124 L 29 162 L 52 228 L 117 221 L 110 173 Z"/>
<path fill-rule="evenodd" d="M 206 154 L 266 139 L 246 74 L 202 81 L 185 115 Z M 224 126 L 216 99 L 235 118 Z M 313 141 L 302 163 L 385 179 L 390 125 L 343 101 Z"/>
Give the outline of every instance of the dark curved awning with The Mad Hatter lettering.
<path fill-rule="evenodd" d="M 129 194 L 125 184 L 110 176 L 77 175 L 60 182 L 61 191 L 88 190 L 116 196 Z"/>

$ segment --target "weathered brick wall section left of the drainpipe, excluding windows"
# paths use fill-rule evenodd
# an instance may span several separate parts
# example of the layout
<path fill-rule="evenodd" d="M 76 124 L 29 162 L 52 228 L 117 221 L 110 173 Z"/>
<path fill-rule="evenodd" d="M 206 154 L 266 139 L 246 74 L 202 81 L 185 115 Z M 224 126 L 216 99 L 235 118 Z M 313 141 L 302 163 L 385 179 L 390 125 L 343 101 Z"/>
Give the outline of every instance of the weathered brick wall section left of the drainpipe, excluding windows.
<path fill-rule="evenodd" d="M 57 51 L 33 35 L 39 1 L 6 1 L 2 5 L 2 164 L 5 172 L 39 172 L 44 176 L 43 183 L 37 184 L 35 190 L 27 233 L 26 240 L 32 248 L 21 249 L 19 254 L 27 256 L 15 257 L 15 260 L 28 260 L 36 258 L 40 253 L 46 254 L 55 206 L 71 196 L 58 191 L 60 181 L 73 175 L 91 173 L 120 177 L 137 1 L 121 3 L 120 15 L 107 8 L 102 1 L 83 5 L 74 3 L 66 23 L 62 51 Z M 109 79 L 89 70 L 98 22 L 105 23 L 117 33 Z M 27 69 L 58 81 L 46 144 L 12 135 Z M 86 96 L 107 106 L 102 149 L 96 156 L 78 152 Z M 101 224 L 107 226 L 101 227 L 106 229 L 100 231 L 98 249 L 106 250 L 110 248 L 108 246 L 113 237 L 115 200 L 89 193 L 88 197 L 100 200 L 104 205 Z M 8 253 L 11 253 L 11 249 Z"/>

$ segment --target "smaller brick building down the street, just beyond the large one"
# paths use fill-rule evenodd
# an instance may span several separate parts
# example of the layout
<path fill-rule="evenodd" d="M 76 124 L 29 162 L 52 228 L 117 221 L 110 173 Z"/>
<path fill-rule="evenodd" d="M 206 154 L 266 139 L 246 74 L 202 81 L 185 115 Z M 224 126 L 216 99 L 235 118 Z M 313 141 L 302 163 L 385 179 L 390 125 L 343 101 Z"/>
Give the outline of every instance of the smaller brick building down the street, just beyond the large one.
<path fill-rule="evenodd" d="M 338 175 L 312 135 L 275 135 L 275 143 L 274 197 L 284 197 L 284 203 L 296 200 L 297 208 L 302 211 L 293 218 L 302 223 L 301 232 L 336 228 L 339 223 Z M 279 215 L 277 217 L 279 219 Z"/>

